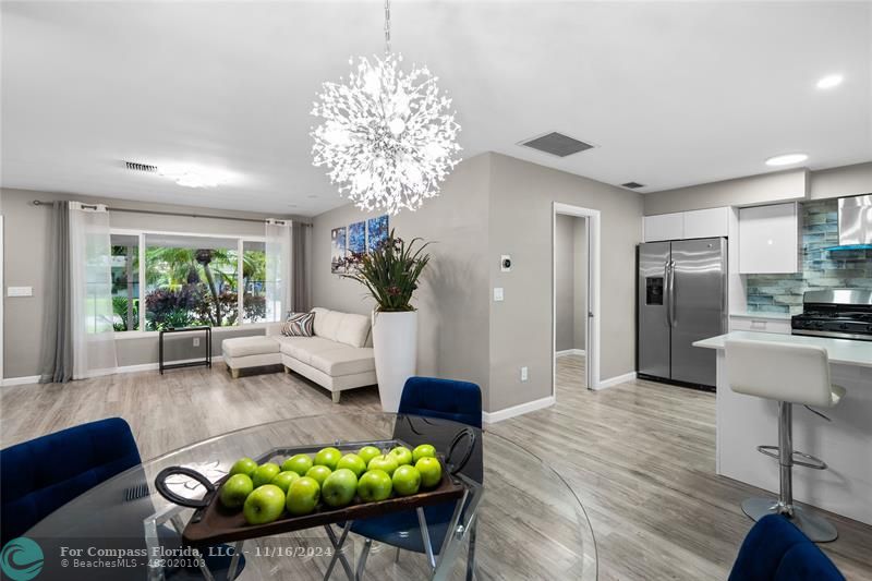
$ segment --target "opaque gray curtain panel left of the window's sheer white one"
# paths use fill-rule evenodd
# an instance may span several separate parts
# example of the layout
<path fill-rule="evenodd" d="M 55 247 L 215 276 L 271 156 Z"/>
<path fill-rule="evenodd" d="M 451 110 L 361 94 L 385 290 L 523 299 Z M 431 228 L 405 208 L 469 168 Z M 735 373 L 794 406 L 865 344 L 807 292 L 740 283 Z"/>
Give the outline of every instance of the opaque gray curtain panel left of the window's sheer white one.
<path fill-rule="evenodd" d="M 49 227 L 46 313 L 39 383 L 73 378 L 72 303 L 70 293 L 70 205 L 55 202 Z"/>

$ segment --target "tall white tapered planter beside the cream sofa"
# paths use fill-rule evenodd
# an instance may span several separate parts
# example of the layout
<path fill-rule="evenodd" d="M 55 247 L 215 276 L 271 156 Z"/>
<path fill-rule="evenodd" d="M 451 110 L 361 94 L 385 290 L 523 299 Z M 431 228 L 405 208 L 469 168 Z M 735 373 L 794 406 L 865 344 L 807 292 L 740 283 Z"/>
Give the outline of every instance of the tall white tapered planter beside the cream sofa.
<path fill-rule="evenodd" d="M 396 413 L 405 380 L 417 365 L 417 313 L 373 312 L 373 348 L 382 409 Z"/>

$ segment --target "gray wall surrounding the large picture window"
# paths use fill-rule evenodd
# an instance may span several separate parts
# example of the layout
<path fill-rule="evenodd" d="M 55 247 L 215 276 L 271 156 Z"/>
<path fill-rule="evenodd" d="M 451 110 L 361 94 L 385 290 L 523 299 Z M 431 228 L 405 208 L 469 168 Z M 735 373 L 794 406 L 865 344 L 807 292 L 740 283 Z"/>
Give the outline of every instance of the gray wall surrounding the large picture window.
<path fill-rule="evenodd" d="M 49 209 L 33 206 L 34 199 L 78 199 L 131 209 L 210 214 L 217 216 L 265 219 L 267 216 L 251 213 L 211 210 L 184 206 L 143 204 L 120 199 L 102 199 L 82 195 L 64 195 L 27 190 L 0 190 L 0 207 L 5 217 L 4 283 L 7 287 L 33 287 L 34 295 L 8 298 L 3 289 L 3 375 L 23 377 L 39 374 L 39 354 L 43 344 L 41 328 L 46 281 L 46 247 L 48 244 Z M 280 216 L 276 216 L 280 218 Z M 113 228 L 153 229 L 192 233 L 232 235 L 264 235 L 264 226 L 209 218 L 187 218 L 146 214 L 111 213 Z M 222 329 L 213 335 L 213 352 L 220 353 L 222 338 L 259 335 L 263 328 Z M 118 363 L 121 366 L 157 362 L 157 337 L 126 336 L 116 339 Z M 175 337 L 166 343 L 166 360 L 201 356 L 203 347 L 194 348 L 191 337 Z"/>

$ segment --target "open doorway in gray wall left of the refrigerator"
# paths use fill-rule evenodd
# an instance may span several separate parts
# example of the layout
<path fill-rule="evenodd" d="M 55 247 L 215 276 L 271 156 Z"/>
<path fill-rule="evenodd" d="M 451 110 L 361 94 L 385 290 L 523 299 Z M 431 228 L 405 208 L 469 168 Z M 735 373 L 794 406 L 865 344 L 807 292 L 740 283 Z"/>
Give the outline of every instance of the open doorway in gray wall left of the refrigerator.
<path fill-rule="evenodd" d="M 554 205 L 553 394 L 600 382 L 600 213 Z"/>

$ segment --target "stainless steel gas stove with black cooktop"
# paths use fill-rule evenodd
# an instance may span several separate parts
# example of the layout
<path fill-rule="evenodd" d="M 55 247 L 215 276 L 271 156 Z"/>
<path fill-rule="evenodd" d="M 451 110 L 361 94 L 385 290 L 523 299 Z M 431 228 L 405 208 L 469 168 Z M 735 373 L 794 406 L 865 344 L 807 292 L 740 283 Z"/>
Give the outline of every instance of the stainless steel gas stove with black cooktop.
<path fill-rule="evenodd" d="M 790 328 L 792 335 L 872 341 L 872 290 L 807 291 Z"/>

